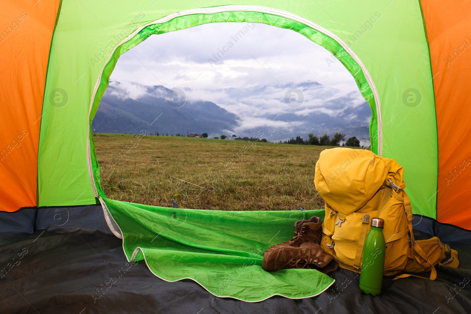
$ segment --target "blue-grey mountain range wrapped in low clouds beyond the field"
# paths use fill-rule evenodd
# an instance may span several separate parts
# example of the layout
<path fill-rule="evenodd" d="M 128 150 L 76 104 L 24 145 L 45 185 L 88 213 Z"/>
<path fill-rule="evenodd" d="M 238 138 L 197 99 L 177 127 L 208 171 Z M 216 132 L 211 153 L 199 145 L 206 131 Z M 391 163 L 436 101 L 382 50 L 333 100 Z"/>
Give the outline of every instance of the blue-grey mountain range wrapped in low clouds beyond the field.
<path fill-rule="evenodd" d="M 285 104 L 286 90 L 296 88 L 304 95 L 299 108 Z M 159 132 L 169 135 L 208 133 L 254 136 L 263 132 L 268 141 L 307 137 L 309 133 L 332 136 L 336 132 L 369 138 L 371 109 L 358 93 L 341 95 L 337 89 L 317 82 L 263 86 L 255 89 L 185 88 L 187 101 L 179 108 L 167 101 L 172 90 L 162 85 L 110 82 L 92 129 L 106 133 Z M 361 95 L 360 95 L 361 97 Z M 206 98 L 206 100 L 201 100 Z M 217 105 L 218 103 L 219 105 Z"/>

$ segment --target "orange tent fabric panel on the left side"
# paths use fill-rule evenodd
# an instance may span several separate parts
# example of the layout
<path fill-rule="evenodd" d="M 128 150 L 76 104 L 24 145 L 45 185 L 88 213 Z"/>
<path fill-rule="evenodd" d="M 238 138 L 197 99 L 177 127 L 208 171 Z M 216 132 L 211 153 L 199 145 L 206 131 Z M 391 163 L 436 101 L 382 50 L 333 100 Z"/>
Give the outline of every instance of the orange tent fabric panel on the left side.
<path fill-rule="evenodd" d="M 0 4 L 0 211 L 37 203 L 42 101 L 59 2 Z"/>

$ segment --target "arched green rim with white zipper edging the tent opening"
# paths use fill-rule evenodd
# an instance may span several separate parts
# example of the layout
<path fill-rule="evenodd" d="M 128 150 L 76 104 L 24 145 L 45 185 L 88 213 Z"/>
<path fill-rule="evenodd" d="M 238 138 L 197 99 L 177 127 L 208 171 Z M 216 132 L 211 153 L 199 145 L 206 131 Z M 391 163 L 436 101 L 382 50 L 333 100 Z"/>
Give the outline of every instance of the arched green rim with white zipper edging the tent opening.
<path fill-rule="evenodd" d="M 89 107 L 89 131 L 87 157 L 90 180 L 96 197 L 104 197 L 99 179 L 99 165 L 95 154 L 93 137 L 91 137 L 91 122 L 114 70 L 119 56 L 146 40 L 150 35 L 173 32 L 201 24 L 221 22 L 262 23 L 291 29 L 299 32 L 309 40 L 331 52 L 354 77 L 358 89 L 372 110 L 370 120 L 371 149 L 382 153 L 381 108 L 378 93 L 370 74 L 358 56 L 349 46 L 332 32 L 291 13 L 258 6 L 222 6 L 204 9 L 191 9 L 165 16 L 159 20 L 139 27 L 135 32 L 122 40 L 106 60 L 93 90 Z"/>

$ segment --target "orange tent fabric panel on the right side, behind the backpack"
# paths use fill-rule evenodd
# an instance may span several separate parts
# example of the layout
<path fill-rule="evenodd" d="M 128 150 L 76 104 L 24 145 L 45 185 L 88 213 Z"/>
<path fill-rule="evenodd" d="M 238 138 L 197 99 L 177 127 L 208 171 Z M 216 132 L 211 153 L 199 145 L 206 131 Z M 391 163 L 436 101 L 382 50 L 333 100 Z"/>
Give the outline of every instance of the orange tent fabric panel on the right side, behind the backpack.
<path fill-rule="evenodd" d="M 422 0 L 422 10 L 430 45 L 437 112 L 437 219 L 439 222 L 469 229 L 471 2 Z"/>

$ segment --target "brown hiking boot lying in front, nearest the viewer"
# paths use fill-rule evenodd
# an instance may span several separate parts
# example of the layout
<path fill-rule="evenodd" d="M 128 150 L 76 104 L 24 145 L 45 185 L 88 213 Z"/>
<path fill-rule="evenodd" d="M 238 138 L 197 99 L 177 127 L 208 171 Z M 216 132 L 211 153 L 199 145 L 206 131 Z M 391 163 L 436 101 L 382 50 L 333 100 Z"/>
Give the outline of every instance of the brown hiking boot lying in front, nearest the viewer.
<path fill-rule="evenodd" d="M 332 255 L 322 250 L 317 243 L 302 247 L 279 246 L 274 250 L 266 250 L 263 254 L 262 268 L 268 272 L 276 272 L 288 268 L 317 269 L 327 274 L 337 269 L 339 262 Z"/>

